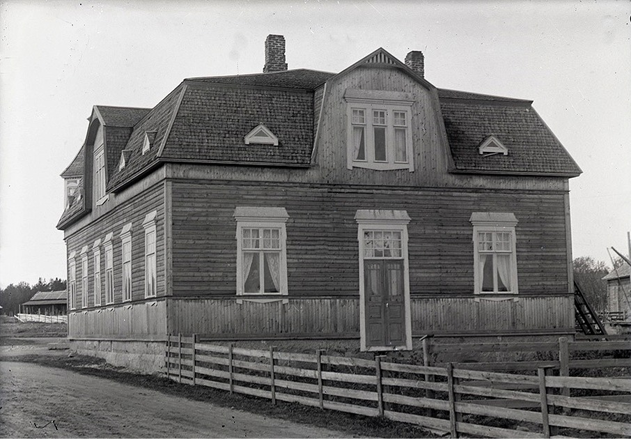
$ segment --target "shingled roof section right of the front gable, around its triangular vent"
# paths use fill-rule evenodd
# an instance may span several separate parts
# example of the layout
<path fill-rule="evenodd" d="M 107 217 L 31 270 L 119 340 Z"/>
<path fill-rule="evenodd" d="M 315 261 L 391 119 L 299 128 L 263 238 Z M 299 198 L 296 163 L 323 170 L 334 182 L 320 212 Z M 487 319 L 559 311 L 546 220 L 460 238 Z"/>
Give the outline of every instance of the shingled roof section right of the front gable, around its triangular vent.
<path fill-rule="evenodd" d="M 531 107 L 530 100 L 439 90 L 440 109 L 455 169 L 480 174 L 574 177 L 581 169 Z M 508 155 L 481 155 L 493 135 Z"/>

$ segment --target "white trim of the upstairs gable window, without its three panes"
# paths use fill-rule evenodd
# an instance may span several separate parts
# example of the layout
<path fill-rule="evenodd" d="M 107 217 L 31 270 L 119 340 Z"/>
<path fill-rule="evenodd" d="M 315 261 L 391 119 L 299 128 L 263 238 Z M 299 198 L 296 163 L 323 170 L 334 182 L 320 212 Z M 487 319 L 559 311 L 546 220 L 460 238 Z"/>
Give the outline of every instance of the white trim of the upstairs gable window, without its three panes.
<path fill-rule="evenodd" d="M 393 171 L 396 169 L 408 169 L 414 172 L 414 148 L 412 148 L 412 104 L 414 98 L 408 93 L 399 93 L 383 90 L 355 90 L 348 88 L 345 91 L 346 101 L 346 167 L 348 169 L 365 168 L 375 171 Z M 363 109 L 365 116 L 364 145 L 366 148 L 365 160 L 353 160 L 353 130 L 352 110 Z M 373 110 L 385 110 L 386 137 L 387 137 L 387 162 L 375 162 L 375 142 L 373 126 Z M 394 157 L 394 111 L 403 111 L 406 114 L 405 146 L 407 148 L 406 162 L 396 162 Z M 388 146 L 391 146 L 388 148 Z"/>

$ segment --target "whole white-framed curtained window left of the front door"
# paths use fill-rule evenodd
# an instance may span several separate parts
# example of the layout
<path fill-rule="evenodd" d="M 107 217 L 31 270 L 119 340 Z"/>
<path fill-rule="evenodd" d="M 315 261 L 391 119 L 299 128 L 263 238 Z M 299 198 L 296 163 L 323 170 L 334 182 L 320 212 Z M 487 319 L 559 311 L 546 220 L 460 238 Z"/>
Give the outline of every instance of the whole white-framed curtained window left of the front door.
<path fill-rule="evenodd" d="M 285 208 L 237 207 L 234 217 L 237 296 L 287 295 Z"/>

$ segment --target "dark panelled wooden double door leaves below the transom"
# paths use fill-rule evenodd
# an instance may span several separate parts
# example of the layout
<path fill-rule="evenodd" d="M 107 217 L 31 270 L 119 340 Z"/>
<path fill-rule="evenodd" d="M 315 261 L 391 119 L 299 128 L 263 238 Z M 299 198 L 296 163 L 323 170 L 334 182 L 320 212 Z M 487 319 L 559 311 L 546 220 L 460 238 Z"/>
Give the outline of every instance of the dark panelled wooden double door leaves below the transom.
<path fill-rule="evenodd" d="M 366 347 L 405 346 L 403 259 L 365 259 Z"/>

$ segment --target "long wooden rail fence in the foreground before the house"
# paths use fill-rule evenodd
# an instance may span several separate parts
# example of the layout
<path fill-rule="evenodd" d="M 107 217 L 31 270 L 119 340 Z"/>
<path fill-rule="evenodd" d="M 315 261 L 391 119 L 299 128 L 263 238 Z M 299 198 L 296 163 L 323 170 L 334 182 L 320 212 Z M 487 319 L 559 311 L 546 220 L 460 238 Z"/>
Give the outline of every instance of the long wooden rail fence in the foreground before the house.
<path fill-rule="evenodd" d="M 631 380 L 550 376 L 545 367 L 536 376 L 526 376 L 453 364 L 400 364 L 383 356 L 366 360 L 325 351 L 220 346 L 180 334 L 168 337 L 166 374 L 179 383 L 259 396 L 272 403 L 290 401 L 418 424 L 448 431 L 453 438 L 548 438 L 558 435 L 559 428 L 631 434 L 631 403 L 605 399 L 628 398 Z M 575 396 L 569 395 L 570 389 Z M 595 392 L 600 399 L 593 398 Z"/>

